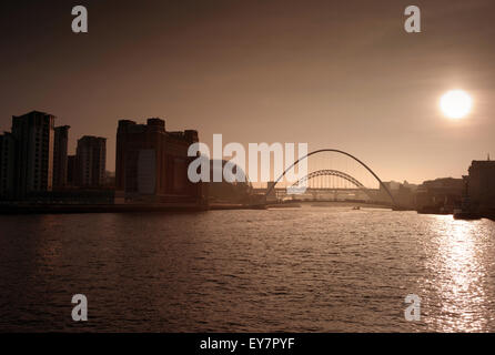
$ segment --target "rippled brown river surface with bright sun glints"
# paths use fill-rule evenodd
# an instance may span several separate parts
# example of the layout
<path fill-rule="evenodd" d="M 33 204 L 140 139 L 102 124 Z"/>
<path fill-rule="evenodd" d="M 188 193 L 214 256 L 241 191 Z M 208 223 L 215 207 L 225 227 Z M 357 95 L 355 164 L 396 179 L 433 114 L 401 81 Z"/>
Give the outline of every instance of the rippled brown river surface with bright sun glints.
<path fill-rule="evenodd" d="M 0 216 L 0 331 L 495 332 L 495 222 L 312 206 Z"/>

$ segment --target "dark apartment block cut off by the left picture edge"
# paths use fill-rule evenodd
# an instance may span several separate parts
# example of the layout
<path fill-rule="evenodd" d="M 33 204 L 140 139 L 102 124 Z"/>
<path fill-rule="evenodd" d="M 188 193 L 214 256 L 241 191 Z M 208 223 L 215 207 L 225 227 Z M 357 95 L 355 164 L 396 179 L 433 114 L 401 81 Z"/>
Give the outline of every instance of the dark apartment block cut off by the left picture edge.
<path fill-rule="evenodd" d="M 9 132 L 0 134 L 0 199 L 13 197 L 14 159 L 14 138 Z"/>

